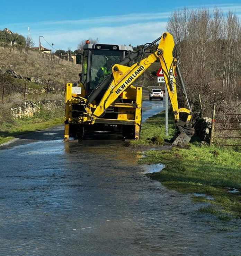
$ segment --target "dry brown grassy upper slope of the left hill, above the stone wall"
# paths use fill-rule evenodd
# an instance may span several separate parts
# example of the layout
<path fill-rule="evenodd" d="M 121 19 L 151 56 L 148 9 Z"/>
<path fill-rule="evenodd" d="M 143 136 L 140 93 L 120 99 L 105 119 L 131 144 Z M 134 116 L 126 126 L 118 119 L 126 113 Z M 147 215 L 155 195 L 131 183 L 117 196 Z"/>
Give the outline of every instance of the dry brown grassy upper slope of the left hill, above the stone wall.
<path fill-rule="evenodd" d="M 14 70 L 18 75 L 31 80 L 50 81 L 51 86 L 62 88 L 65 82 L 78 80 L 80 66 L 75 63 L 52 59 L 48 54 L 24 46 L 0 45 L 0 69 L 5 72 Z M 38 82 L 41 84 L 41 82 Z"/>

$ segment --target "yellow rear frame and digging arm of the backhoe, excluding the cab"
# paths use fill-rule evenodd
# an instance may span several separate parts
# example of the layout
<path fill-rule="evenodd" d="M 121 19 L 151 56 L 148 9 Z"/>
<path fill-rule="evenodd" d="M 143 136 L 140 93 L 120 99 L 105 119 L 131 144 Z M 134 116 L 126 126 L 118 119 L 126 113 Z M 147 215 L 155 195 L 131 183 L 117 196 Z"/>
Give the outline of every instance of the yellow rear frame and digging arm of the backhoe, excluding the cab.
<path fill-rule="evenodd" d="M 114 64 L 111 68 L 112 74 L 108 77 L 108 88 L 99 100 L 98 104 L 95 101 L 95 95 L 97 95 L 98 92 L 93 92 L 92 96 L 89 97 L 86 97 L 84 92 L 75 95 L 71 93 L 72 84 L 67 84 L 64 139 L 69 139 L 69 125 L 71 123 L 84 126 L 91 126 L 97 123 L 106 123 L 108 125 L 119 124 L 123 126 L 126 125 L 125 127 L 129 129 L 131 129 L 132 126 L 132 128 L 134 128 L 131 131 L 132 135 L 134 135 L 132 138 L 139 139 L 142 88 L 134 87 L 132 83 L 140 77 L 143 72 L 152 65 L 152 63 L 159 59 L 175 121 L 180 131 L 180 134 L 174 139 L 173 144 L 187 144 L 190 137 L 194 134 L 194 130 L 189 123 L 192 113 L 190 111 L 190 107 L 189 109 L 178 107 L 175 73 L 176 68 L 178 72 L 179 69 L 177 67 L 177 60 L 172 54 L 174 46 L 175 44 L 172 35 L 165 32 L 160 39 L 156 52 L 131 66 L 121 65 L 123 62 Z M 105 80 L 98 85 L 97 91 L 101 91 L 102 87 L 104 88 L 106 85 Z M 185 91 L 185 88 L 183 88 L 183 90 Z M 129 103 L 118 102 L 120 96 L 122 96 L 123 100 L 128 99 Z M 187 97 L 186 101 L 189 106 Z M 80 110 L 82 114 L 78 117 L 74 117 L 72 114 L 74 111 L 74 105 L 82 106 L 82 109 Z M 114 107 L 115 112 L 118 112 L 117 118 L 104 120 L 102 115 L 111 107 Z M 184 121 L 180 120 L 180 113 L 185 113 L 186 118 Z"/>

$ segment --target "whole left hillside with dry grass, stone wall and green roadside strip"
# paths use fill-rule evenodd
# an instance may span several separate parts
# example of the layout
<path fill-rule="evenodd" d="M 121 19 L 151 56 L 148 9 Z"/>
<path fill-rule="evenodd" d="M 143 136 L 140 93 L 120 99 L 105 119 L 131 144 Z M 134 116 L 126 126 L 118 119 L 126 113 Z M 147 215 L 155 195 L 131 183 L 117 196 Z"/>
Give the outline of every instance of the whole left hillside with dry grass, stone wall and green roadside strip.
<path fill-rule="evenodd" d="M 65 84 L 77 82 L 80 70 L 38 50 L 1 43 L 0 144 L 63 123 Z"/>

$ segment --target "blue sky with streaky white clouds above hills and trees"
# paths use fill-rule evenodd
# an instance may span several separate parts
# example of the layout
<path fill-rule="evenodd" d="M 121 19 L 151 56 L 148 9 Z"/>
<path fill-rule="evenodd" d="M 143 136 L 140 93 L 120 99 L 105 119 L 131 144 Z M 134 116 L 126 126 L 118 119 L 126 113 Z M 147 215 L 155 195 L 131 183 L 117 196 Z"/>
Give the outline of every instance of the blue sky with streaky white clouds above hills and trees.
<path fill-rule="evenodd" d="M 144 44 L 154 41 L 165 30 L 168 17 L 175 9 L 205 6 L 233 10 L 241 18 L 240 0 L 223 1 L 4 1 L 1 2 L 0 29 L 30 33 L 38 45 L 44 36 L 55 49 L 77 49 L 88 37 L 100 43 Z M 50 46 L 41 39 L 46 48 Z"/>

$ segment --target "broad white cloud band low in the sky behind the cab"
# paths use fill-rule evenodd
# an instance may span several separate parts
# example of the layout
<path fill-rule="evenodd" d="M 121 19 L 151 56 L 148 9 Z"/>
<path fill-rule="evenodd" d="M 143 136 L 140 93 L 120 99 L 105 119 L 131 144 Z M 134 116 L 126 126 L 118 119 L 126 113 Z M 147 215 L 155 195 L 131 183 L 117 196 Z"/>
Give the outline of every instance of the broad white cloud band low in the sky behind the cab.
<path fill-rule="evenodd" d="M 88 29 L 76 29 L 71 31 L 62 31 L 59 33 L 47 32 L 45 33 L 45 39 L 52 43 L 57 49 L 76 49 L 77 44 L 83 39 L 88 37 L 99 38 L 100 43 L 113 43 L 113 44 L 126 44 L 130 43 L 134 46 L 137 44 L 144 44 L 152 42 L 161 34 L 166 31 L 166 22 L 149 22 L 149 23 L 137 23 L 126 26 L 104 26 L 104 27 L 92 27 Z M 43 32 L 41 32 L 43 34 Z M 33 35 L 34 40 L 37 40 L 37 35 Z M 44 41 L 43 41 L 44 44 Z M 45 44 L 44 44 L 45 45 Z M 47 45 L 45 45 L 47 46 Z"/>

